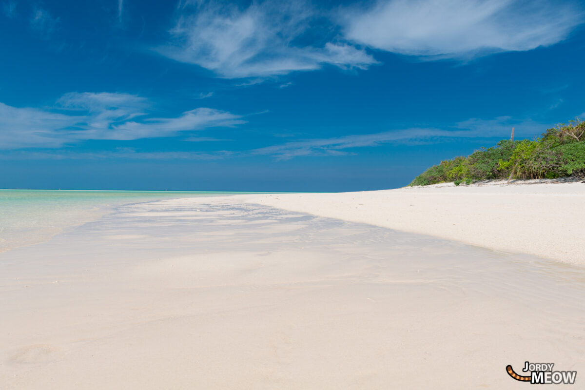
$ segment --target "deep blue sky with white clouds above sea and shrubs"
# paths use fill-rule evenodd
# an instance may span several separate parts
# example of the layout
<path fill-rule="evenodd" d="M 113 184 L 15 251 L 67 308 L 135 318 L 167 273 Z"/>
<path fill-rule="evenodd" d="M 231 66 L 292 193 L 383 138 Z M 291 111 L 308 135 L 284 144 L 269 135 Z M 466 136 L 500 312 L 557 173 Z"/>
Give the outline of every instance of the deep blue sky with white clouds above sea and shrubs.
<path fill-rule="evenodd" d="M 0 188 L 365 191 L 585 118 L 572 0 L 0 0 Z"/>

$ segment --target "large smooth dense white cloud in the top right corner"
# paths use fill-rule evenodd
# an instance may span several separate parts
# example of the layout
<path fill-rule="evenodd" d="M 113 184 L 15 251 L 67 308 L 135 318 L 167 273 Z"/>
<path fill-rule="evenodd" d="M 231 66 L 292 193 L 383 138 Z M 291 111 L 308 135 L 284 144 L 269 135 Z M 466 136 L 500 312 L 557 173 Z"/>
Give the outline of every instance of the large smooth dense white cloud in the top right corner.
<path fill-rule="evenodd" d="M 558 43 L 582 15 L 551 0 L 378 0 L 346 9 L 340 20 L 347 39 L 372 48 L 462 58 Z"/>

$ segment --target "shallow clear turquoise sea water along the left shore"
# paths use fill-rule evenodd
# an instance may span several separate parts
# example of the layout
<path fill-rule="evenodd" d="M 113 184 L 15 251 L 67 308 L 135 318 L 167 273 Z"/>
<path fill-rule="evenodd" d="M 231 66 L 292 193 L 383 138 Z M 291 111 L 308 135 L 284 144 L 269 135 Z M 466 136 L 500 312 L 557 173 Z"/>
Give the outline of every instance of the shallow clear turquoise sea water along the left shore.
<path fill-rule="evenodd" d="M 116 206 L 159 199 L 250 194 L 208 191 L 68 191 L 0 189 L 0 252 L 42 242 Z"/>

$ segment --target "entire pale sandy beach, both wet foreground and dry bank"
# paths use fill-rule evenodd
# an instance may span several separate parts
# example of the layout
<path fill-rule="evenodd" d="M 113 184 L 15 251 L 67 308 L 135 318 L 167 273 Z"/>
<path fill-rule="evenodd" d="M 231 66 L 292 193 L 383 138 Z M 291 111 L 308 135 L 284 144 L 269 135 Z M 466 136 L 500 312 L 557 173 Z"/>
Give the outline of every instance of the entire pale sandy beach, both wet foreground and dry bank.
<path fill-rule="evenodd" d="M 584 188 L 118 206 L 0 253 L 0 383 L 515 389 L 508 364 L 580 374 Z"/>

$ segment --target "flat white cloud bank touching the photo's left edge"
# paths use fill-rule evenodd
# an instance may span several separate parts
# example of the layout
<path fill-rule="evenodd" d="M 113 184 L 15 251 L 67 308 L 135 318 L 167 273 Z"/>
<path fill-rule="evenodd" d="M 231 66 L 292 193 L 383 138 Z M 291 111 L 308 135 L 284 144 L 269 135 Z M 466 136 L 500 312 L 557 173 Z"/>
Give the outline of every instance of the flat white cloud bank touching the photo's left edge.
<path fill-rule="evenodd" d="M 140 96 L 108 92 L 66 94 L 53 109 L 0 103 L 0 149 L 60 147 L 89 139 L 173 137 L 189 130 L 245 123 L 239 115 L 212 108 L 196 108 L 175 118 L 144 118 L 149 106 Z"/>

